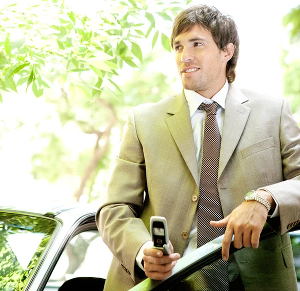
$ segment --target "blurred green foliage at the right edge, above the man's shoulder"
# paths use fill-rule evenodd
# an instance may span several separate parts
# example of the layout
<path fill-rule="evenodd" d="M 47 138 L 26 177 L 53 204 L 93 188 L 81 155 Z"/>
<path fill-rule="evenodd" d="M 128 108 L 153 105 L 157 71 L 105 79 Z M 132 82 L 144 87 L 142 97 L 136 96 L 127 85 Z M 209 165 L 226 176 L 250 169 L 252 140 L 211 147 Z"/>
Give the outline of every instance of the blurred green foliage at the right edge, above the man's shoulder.
<path fill-rule="evenodd" d="M 284 95 L 291 100 L 291 109 L 293 112 L 300 112 L 300 5 L 283 17 L 283 25 L 289 27 L 289 35 L 291 51 L 283 52 L 283 66 L 285 69 L 283 76 L 283 90 Z M 295 49 L 297 53 L 295 56 L 292 50 Z"/>

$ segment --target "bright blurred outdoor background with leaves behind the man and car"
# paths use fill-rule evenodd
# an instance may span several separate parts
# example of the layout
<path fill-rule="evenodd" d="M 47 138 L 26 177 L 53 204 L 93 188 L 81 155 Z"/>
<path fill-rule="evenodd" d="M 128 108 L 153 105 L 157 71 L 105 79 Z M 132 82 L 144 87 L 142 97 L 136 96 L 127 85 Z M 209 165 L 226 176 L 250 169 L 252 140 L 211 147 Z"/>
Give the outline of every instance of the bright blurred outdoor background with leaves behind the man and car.
<path fill-rule="evenodd" d="M 128 111 L 181 89 L 172 20 L 195 0 L 1 0 L 0 192 L 99 204 Z M 207 0 L 231 15 L 234 84 L 300 120 L 300 5 Z"/>

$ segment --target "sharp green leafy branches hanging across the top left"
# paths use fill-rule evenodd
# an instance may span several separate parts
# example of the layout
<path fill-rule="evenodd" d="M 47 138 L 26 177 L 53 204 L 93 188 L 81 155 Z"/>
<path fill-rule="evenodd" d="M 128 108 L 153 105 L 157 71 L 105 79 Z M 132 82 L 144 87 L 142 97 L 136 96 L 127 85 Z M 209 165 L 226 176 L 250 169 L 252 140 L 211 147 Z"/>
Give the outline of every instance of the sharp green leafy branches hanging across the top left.
<path fill-rule="evenodd" d="M 150 13 L 147 2 L 106 0 L 92 16 L 75 13 L 57 0 L 2 4 L 0 89 L 17 91 L 25 83 L 26 89 L 40 97 L 57 74 L 60 86 L 70 96 L 77 92 L 92 99 L 104 88 L 118 89 L 112 76 L 124 63 L 137 67 L 136 61 L 142 61 L 138 44 L 142 38 L 155 31 L 154 46 L 160 33 L 163 46 L 170 50 L 168 37 L 157 28 L 155 17 L 172 20 L 173 13 L 181 9 L 178 4 L 186 3 L 154 0 L 159 11 Z M 83 72 L 93 81 L 82 81 Z M 109 86 L 103 84 L 104 79 Z"/>

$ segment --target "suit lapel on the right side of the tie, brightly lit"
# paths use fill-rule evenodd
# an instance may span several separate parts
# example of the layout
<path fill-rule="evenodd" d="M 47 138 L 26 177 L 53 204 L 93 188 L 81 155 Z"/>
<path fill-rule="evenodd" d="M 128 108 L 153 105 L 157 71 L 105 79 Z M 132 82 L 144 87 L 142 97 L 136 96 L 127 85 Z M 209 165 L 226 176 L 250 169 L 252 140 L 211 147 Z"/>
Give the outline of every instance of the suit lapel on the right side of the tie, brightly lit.
<path fill-rule="evenodd" d="M 218 178 L 232 155 L 247 122 L 250 108 L 242 104 L 246 101 L 248 98 L 232 84 L 229 84 L 225 101 Z"/>

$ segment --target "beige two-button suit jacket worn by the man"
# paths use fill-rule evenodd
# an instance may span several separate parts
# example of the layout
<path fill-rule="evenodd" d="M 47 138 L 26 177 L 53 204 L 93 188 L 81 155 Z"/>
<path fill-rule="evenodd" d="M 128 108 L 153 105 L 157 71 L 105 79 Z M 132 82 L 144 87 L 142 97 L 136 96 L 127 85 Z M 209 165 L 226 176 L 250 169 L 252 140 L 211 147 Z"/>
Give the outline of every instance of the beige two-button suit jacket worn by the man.
<path fill-rule="evenodd" d="M 300 220 L 300 130 L 288 102 L 229 84 L 218 169 L 224 216 L 244 194 L 265 187 L 279 217 L 268 219 L 283 234 Z M 145 194 L 144 194 L 145 193 Z M 96 214 L 113 253 L 105 290 L 128 290 L 140 281 L 135 256 L 150 240 L 150 216 L 166 217 L 174 251 L 182 255 L 197 202 L 199 181 L 188 105 L 183 91 L 141 104 L 128 117 L 107 194 Z M 296 290 L 288 234 L 244 248 L 235 259 L 246 290 Z M 139 269 L 140 270 L 140 269 Z M 255 278 L 255 279 L 253 279 Z M 283 288 L 280 288 L 283 286 Z"/>

